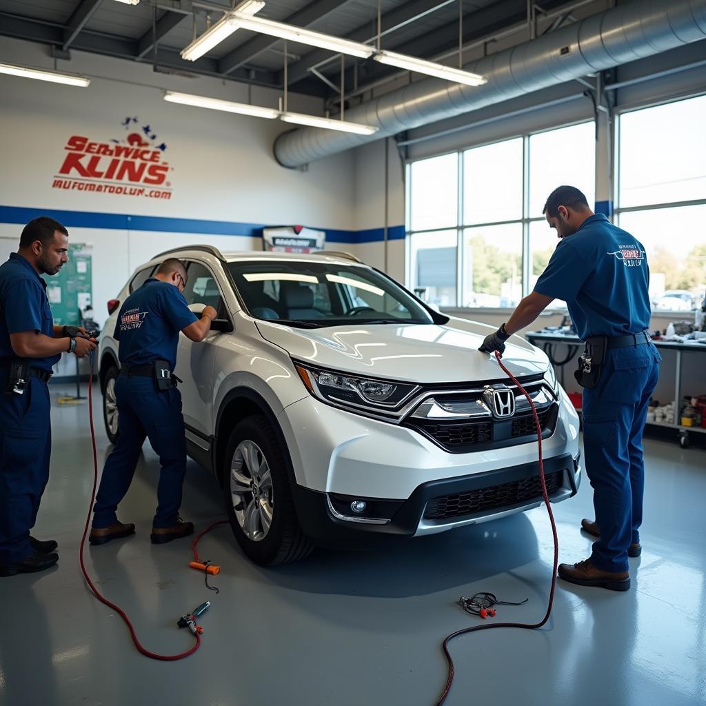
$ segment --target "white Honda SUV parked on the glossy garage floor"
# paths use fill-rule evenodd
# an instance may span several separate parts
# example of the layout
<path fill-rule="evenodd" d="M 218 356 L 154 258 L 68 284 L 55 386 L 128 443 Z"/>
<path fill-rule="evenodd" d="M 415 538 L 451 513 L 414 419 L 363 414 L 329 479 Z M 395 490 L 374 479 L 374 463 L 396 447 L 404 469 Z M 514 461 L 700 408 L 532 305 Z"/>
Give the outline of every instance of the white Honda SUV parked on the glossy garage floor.
<path fill-rule="evenodd" d="M 416 537 L 542 501 L 534 421 L 494 357 L 489 327 L 433 311 L 347 253 L 227 253 L 191 246 L 141 266 L 100 342 L 108 436 L 121 301 L 165 257 L 186 264 L 191 309 L 219 318 L 204 343 L 179 337 L 176 374 L 189 455 L 211 469 L 233 532 L 257 563 L 313 543 Z M 520 337 L 503 361 L 544 431 L 552 502 L 580 482 L 578 417 L 546 355 Z"/>

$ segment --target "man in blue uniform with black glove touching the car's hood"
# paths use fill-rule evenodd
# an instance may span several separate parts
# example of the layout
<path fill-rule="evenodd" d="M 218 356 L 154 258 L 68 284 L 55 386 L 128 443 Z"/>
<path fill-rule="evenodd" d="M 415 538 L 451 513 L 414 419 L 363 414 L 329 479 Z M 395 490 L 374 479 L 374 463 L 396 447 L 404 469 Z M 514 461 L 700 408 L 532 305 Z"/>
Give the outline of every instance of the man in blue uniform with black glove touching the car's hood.
<path fill-rule="evenodd" d="M 647 333 L 650 270 L 642 244 L 594 214 L 573 186 L 555 189 L 544 214 L 561 240 L 534 292 L 480 350 L 503 352 L 505 340 L 553 299 L 566 301 L 590 359 L 577 379 L 585 388 L 584 452 L 596 520 L 581 525 L 598 539 L 590 558 L 561 564 L 558 575 L 584 586 L 628 590 L 628 556 L 641 551 L 642 431 L 662 360 Z"/>

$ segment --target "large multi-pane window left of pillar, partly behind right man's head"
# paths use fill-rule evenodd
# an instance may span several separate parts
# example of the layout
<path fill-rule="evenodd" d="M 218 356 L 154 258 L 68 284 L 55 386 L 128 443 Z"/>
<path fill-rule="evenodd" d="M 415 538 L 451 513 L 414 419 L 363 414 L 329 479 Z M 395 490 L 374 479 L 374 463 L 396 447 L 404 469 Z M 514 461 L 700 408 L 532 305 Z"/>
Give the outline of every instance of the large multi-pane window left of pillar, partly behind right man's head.
<path fill-rule="evenodd" d="M 594 155 L 587 122 L 412 162 L 412 288 L 439 306 L 516 306 L 558 242 L 542 215 L 546 197 L 572 184 L 592 204 Z"/>

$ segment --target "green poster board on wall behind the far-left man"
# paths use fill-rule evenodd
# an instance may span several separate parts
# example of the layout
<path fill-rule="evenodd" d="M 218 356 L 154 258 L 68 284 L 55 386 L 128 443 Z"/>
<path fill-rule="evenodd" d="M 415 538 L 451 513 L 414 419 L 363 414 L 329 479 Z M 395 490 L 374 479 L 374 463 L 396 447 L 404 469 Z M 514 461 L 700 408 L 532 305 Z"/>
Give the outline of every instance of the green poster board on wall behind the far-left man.
<path fill-rule="evenodd" d="M 68 246 L 68 263 L 59 273 L 47 277 L 47 297 L 52 305 L 54 323 L 80 326 L 83 318 L 92 318 L 91 260 L 92 246 L 71 243 Z"/>

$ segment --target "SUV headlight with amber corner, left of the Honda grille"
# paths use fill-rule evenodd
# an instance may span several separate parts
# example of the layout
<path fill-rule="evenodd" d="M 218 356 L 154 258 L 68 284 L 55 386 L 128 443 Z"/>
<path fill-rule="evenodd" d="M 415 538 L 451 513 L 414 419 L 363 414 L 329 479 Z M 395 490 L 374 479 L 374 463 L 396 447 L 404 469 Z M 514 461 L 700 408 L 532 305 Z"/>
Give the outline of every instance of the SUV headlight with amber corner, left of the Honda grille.
<path fill-rule="evenodd" d="M 372 406 L 380 411 L 392 411 L 400 407 L 418 387 L 413 383 L 360 378 L 338 371 L 310 368 L 296 362 L 294 367 L 314 397 L 337 407 L 369 409 Z"/>

